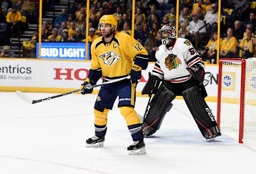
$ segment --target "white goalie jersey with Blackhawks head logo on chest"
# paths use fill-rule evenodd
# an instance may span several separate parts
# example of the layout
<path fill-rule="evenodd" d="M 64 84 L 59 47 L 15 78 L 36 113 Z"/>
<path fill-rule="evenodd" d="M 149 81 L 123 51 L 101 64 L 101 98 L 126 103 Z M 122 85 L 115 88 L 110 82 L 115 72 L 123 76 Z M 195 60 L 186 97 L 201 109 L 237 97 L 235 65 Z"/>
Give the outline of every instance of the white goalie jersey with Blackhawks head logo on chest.
<path fill-rule="evenodd" d="M 197 53 L 196 49 L 187 39 L 177 38 L 174 45 L 167 48 L 162 44 L 156 51 L 155 67 L 153 74 L 160 79 L 173 83 L 185 82 L 191 78 L 191 74 L 187 70 L 196 63 L 204 63 Z"/>

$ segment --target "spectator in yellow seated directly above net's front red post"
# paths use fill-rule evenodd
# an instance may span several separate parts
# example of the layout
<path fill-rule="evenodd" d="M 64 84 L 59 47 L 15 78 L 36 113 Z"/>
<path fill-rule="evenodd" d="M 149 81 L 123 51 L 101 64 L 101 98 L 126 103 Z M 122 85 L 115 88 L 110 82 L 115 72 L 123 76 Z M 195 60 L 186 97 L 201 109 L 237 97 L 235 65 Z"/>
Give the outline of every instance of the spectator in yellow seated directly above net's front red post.
<path fill-rule="evenodd" d="M 244 38 L 239 44 L 239 57 L 247 59 L 253 57 L 254 52 L 252 48 L 252 30 L 246 29 L 246 38 Z"/>

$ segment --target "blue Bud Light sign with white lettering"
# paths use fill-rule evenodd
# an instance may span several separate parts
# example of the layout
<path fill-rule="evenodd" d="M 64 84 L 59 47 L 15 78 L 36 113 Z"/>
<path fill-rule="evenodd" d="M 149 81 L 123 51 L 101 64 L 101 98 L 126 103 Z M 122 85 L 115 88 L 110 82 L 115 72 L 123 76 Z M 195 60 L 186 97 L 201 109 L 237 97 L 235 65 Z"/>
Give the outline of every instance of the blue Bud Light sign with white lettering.
<path fill-rule="evenodd" d="M 38 59 L 39 44 L 36 43 L 36 58 Z M 41 59 L 86 60 L 85 43 L 41 43 Z M 88 56 L 90 60 L 90 44 Z"/>

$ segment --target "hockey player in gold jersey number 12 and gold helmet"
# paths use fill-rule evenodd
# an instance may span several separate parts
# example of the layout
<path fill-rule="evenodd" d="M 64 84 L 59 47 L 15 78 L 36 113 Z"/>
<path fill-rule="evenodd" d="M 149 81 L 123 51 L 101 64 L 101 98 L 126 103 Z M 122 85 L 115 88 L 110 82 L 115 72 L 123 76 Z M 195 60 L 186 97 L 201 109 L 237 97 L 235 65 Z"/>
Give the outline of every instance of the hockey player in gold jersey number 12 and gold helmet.
<path fill-rule="evenodd" d="M 130 35 L 116 32 L 117 21 L 113 15 L 103 15 L 99 22 L 102 37 L 91 45 L 91 69 L 81 86 L 82 94 L 92 93 L 92 85 L 103 76 L 104 81 L 131 77 L 101 87 L 94 105 L 95 136 L 86 140 L 86 147 L 103 146 L 107 131 L 107 114 L 118 96 L 118 107 L 131 133 L 133 144 L 127 147 L 129 154 L 145 154 L 140 120 L 134 111 L 135 87 L 141 78 L 141 70 L 148 65 L 148 53 Z"/>

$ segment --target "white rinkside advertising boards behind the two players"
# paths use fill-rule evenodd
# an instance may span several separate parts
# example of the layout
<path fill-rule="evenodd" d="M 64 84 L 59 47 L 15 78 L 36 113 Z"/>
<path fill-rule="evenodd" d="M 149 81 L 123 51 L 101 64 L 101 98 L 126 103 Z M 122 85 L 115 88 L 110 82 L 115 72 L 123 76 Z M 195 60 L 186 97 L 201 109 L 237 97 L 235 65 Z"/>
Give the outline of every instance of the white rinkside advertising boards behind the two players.
<path fill-rule="evenodd" d="M 25 87 L 27 92 L 33 92 L 35 88 L 40 88 L 38 92 L 45 92 L 46 88 L 56 89 L 56 91 L 77 89 L 89 75 L 90 65 L 89 61 L 0 59 L 0 89 L 11 91 L 9 89 L 12 87 L 12 91 L 15 91 Z M 146 85 L 148 72 L 153 68 L 154 63 L 149 63 L 148 68 L 142 70 L 137 92 L 141 92 Z M 208 96 L 217 97 L 218 68 L 217 65 L 205 65 L 204 86 Z M 102 79 L 98 84 L 101 82 Z"/>

